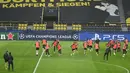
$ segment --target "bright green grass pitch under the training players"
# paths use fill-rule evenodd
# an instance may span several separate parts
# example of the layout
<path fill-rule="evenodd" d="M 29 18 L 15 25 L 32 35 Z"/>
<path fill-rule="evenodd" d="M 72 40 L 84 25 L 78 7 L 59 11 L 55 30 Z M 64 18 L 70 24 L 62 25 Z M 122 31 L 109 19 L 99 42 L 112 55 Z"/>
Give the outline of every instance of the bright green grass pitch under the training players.
<path fill-rule="evenodd" d="M 52 41 L 49 42 L 49 44 L 51 43 Z M 72 41 L 61 41 L 60 43 L 63 54 L 58 56 L 57 51 L 54 54 L 53 48 L 50 48 L 51 57 L 43 55 L 36 73 L 127 73 L 126 70 L 114 65 L 123 66 L 130 70 L 129 51 L 125 58 L 122 58 L 122 52 L 117 52 L 116 56 L 112 53 L 112 56 L 109 56 L 109 61 L 105 62 L 103 60 L 105 42 L 100 43 L 99 56 L 96 55 L 95 50 L 88 51 L 85 56 L 82 42 L 79 43 L 78 53 L 70 56 Z M 40 49 L 39 56 L 35 56 L 34 44 L 34 41 L 0 41 L 0 73 L 33 73 L 42 52 Z M 3 54 L 7 49 L 14 56 L 14 72 L 4 68 Z"/>

